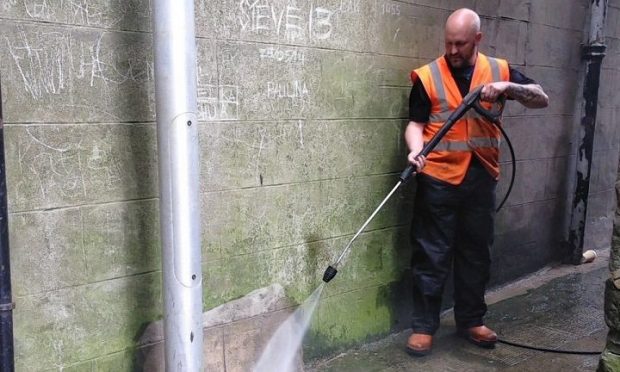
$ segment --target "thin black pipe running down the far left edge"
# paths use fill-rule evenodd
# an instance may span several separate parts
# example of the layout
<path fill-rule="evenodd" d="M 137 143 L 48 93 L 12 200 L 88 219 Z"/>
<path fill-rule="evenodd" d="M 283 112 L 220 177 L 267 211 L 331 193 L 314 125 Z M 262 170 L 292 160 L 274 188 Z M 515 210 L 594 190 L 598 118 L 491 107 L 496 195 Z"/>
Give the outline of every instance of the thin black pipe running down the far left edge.
<path fill-rule="evenodd" d="M 2 83 L 0 82 L 0 371 L 15 370 L 13 353 L 13 303 L 9 253 L 9 214 L 4 164 L 4 124 L 2 121 Z"/>

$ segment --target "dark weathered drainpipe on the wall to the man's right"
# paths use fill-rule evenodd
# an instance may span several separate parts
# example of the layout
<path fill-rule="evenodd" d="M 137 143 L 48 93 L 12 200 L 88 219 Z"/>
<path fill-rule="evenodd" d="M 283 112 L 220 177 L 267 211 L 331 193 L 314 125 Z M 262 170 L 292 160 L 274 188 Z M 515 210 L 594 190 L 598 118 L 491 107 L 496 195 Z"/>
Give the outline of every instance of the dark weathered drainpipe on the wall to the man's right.
<path fill-rule="evenodd" d="M 603 28 L 607 15 L 608 0 L 591 0 L 588 43 L 582 46 L 585 73 L 583 81 L 583 102 L 581 105 L 581 126 L 575 174 L 572 214 L 568 231 L 569 260 L 573 264 L 581 262 L 583 253 L 588 195 L 590 192 L 590 173 L 594 147 L 594 129 L 598 104 L 598 88 L 601 64 L 605 56 L 605 37 Z"/>

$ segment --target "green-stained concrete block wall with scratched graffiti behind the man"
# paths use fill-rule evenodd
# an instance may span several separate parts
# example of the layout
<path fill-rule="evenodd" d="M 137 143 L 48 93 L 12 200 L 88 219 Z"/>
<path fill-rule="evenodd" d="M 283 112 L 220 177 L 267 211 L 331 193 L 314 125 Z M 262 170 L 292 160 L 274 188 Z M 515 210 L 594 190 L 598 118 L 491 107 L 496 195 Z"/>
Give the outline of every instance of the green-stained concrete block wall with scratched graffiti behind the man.
<path fill-rule="evenodd" d="M 314 290 L 405 165 L 408 72 L 442 53 L 445 18 L 463 6 L 483 16 L 483 51 L 509 59 L 551 100 L 506 113 L 519 173 L 498 216 L 493 283 L 559 258 L 588 1 L 195 5 L 205 310 L 274 283 L 294 303 Z M 609 245 L 613 216 L 618 5 L 609 11 L 592 247 Z M 18 370 L 129 370 L 136 340 L 161 318 L 149 7 L 0 5 Z M 411 195 L 409 185 L 388 203 L 327 286 L 306 357 L 408 326 Z M 221 333 L 218 350 L 230 338 Z"/>

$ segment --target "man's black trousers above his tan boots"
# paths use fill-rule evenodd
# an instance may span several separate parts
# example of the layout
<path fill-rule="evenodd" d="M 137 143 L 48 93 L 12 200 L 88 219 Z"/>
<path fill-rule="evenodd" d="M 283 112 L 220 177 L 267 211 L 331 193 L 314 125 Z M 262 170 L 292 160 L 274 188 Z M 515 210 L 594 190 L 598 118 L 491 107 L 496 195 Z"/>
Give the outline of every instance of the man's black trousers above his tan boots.
<path fill-rule="evenodd" d="M 497 182 L 473 160 L 458 186 L 418 175 L 411 228 L 415 333 L 434 334 L 444 284 L 454 275 L 454 317 L 459 328 L 482 325 L 487 306 Z"/>

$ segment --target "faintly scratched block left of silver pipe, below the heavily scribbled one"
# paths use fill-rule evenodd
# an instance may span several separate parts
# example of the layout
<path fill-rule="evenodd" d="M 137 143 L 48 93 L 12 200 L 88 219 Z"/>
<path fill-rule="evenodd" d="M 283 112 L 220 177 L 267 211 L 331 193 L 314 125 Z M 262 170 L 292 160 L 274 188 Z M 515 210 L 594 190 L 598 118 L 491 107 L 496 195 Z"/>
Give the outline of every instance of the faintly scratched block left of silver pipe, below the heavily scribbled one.
<path fill-rule="evenodd" d="M 11 139 L 18 208 L 153 192 L 153 126 L 24 125 Z"/>

